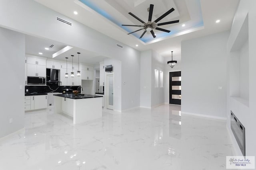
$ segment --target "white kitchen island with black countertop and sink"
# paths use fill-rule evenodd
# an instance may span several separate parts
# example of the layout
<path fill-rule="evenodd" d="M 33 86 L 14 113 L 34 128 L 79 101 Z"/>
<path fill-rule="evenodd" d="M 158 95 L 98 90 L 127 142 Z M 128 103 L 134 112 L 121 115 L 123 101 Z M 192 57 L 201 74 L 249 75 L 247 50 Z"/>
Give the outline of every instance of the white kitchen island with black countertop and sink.
<path fill-rule="evenodd" d="M 73 117 L 73 123 L 102 117 L 102 96 L 89 94 L 54 94 L 54 113 Z"/>

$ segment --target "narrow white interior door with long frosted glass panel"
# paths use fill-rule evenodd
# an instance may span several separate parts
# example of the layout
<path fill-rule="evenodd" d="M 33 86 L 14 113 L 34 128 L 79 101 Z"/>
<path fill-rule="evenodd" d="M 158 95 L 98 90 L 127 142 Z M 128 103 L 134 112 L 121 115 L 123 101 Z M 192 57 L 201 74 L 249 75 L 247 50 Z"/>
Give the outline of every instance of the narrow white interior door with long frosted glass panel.
<path fill-rule="evenodd" d="M 114 74 L 107 74 L 106 76 L 106 99 L 107 109 L 114 109 Z"/>

